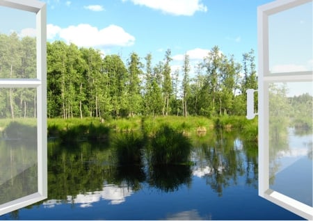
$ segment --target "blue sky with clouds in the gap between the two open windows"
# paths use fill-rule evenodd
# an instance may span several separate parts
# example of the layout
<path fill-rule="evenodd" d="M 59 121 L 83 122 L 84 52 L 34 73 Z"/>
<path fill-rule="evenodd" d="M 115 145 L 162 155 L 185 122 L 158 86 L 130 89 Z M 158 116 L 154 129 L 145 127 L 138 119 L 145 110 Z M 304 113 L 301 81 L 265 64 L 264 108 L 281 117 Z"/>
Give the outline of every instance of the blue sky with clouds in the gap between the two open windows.
<path fill-rule="evenodd" d="M 173 68 L 182 55 L 193 63 L 218 45 L 224 54 L 257 51 L 257 6 L 271 0 L 47 0 L 48 40 L 94 47 L 104 54 L 132 51 L 154 63 L 172 51 Z M 144 60 L 143 60 L 144 62 Z"/>

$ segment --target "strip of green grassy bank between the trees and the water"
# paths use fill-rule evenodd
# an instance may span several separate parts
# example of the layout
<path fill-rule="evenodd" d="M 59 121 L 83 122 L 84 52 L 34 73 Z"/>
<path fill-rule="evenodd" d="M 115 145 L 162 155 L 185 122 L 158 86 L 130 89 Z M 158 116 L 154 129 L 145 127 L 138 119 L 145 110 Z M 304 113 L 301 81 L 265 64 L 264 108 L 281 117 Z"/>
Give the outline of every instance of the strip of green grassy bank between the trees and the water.
<path fill-rule="evenodd" d="M 106 140 L 111 133 L 125 133 L 138 131 L 145 136 L 154 136 L 164 125 L 186 136 L 201 135 L 223 129 L 241 130 L 247 140 L 257 140 L 257 119 L 246 120 L 246 117 L 131 117 L 119 120 L 99 120 L 98 118 L 71 118 L 49 119 L 48 138 L 60 138 L 64 142 L 77 142 L 80 140 Z"/>

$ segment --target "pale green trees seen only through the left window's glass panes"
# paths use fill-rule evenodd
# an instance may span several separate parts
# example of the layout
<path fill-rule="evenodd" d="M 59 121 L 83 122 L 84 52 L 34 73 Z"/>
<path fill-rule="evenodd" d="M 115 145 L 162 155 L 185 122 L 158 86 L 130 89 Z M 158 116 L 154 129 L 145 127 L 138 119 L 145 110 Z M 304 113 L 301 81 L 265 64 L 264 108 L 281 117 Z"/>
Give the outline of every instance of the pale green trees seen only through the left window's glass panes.
<path fill-rule="evenodd" d="M 35 38 L 0 33 L 0 79 L 34 79 Z M 0 118 L 36 117 L 34 88 L 0 88 Z"/>

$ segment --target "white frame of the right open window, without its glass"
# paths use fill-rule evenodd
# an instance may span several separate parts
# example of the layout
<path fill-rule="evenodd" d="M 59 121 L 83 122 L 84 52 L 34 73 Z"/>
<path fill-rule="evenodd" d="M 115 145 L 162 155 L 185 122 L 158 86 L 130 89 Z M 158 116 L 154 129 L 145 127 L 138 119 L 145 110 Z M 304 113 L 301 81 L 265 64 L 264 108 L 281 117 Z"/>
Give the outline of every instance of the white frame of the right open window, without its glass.
<path fill-rule="evenodd" d="M 269 143 L 268 143 L 268 85 L 275 82 L 297 82 L 313 80 L 313 72 L 270 73 L 268 61 L 268 17 L 284 10 L 312 2 L 312 0 L 276 0 L 257 8 L 258 31 L 258 83 L 259 83 L 259 196 L 313 220 L 313 207 L 298 202 L 269 188 Z"/>

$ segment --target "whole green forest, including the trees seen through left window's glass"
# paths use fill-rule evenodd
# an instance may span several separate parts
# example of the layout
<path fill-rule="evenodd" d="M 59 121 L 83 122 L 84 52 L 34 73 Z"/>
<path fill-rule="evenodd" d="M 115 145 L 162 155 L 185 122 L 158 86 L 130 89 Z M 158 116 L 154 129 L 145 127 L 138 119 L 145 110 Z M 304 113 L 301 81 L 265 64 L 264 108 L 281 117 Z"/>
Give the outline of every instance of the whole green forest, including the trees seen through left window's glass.
<path fill-rule="evenodd" d="M 35 78 L 35 38 L 0 34 L 0 45 L 0 78 Z M 123 61 L 97 49 L 47 42 L 47 115 L 246 115 L 246 89 L 257 88 L 252 49 L 241 63 L 218 46 L 195 67 L 188 54 L 180 69 L 171 69 L 171 62 L 170 49 L 159 62 L 136 52 Z M 1 89 L 0 115 L 35 117 L 35 99 L 33 88 Z"/>

